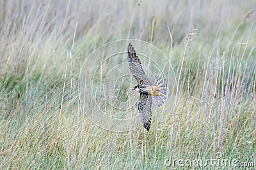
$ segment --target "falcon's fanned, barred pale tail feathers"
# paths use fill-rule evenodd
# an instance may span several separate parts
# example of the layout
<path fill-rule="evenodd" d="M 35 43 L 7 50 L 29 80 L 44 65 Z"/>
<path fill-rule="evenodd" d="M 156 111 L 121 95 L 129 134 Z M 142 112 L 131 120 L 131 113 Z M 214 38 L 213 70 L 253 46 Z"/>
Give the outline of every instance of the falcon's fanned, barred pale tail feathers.
<path fill-rule="evenodd" d="M 164 85 L 164 81 L 157 75 L 154 75 L 152 85 L 159 88 L 157 92 L 159 92 L 161 95 L 152 96 L 152 100 L 156 107 L 160 107 L 164 104 L 164 101 L 166 99 L 166 86 Z"/>

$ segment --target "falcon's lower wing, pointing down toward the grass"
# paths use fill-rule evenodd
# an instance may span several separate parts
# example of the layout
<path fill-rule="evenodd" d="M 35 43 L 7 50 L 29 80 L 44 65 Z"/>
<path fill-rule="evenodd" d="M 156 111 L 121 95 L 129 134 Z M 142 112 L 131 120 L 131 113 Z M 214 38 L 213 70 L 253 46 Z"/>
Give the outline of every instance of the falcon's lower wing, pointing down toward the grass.
<path fill-rule="evenodd" d="M 150 95 L 140 94 L 138 110 L 140 111 L 140 120 L 143 126 L 149 131 L 152 117 L 152 98 Z"/>

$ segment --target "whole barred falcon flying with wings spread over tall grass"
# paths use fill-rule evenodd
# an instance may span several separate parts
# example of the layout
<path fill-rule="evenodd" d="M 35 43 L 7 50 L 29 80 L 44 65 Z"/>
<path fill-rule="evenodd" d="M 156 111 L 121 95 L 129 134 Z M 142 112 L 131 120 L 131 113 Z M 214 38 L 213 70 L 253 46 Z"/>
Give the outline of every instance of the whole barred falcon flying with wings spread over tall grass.
<path fill-rule="evenodd" d="M 138 85 L 133 87 L 133 89 L 140 93 L 140 102 L 138 104 L 140 119 L 145 129 L 149 131 L 152 117 L 152 101 L 156 107 L 164 104 L 166 86 L 163 80 L 157 75 L 154 75 L 152 82 L 148 79 L 131 43 L 127 47 L 127 59 L 131 73 L 138 82 Z"/>

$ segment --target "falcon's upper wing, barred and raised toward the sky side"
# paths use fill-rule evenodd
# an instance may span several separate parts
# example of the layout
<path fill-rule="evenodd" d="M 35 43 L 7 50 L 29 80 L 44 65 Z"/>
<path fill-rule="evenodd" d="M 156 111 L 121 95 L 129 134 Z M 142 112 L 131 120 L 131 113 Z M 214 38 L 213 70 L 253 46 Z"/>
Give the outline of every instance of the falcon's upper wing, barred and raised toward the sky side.
<path fill-rule="evenodd" d="M 129 43 L 127 47 L 127 59 L 129 62 L 131 73 L 138 81 L 138 84 L 151 85 L 151 82 L 148 79 L 145 71 L 143 70 L 140 59 L 138 58 L 138 56 L 136 56 L 136 51 L 134 47 L 131 45 L 131 43 Z"/>

